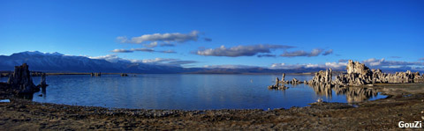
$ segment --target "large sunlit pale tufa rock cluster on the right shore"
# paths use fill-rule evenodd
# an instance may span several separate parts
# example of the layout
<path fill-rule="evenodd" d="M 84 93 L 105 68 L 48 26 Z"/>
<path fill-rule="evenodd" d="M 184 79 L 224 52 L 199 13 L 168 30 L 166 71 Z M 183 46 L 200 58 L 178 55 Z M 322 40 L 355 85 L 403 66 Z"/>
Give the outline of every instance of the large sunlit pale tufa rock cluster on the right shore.
<path fill-rule="evenodd" d="M 341 74 L 332 80 L 332 70 L 315 73 L 307 84 L 321 86 L 361 86 L 365 84 L 406 84 L 423 82 L 424 76 L 419 72 L 396 72 L 395 74 L 382 73 L 381 69 L 368 69 L 365 64 L 349 60 L 346 66 L 347 74 Z"/>

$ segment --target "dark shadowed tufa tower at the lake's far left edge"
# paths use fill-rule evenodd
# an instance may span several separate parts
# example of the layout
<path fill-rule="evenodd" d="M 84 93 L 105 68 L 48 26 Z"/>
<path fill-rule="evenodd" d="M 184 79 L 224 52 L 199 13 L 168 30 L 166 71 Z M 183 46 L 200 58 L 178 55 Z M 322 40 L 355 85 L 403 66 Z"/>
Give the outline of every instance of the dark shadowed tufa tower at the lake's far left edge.
<path fill-rule="evenodd" d="M 7 80 L 7 84 L 10 84 L 13 90 L 19 93 L 34 93 L 40 91 L 40 88 L 34 85 L 28 68 L 29 66 L 27 63 L 21 66 L 15 66 L 15 72 L 13 72 Z"/>

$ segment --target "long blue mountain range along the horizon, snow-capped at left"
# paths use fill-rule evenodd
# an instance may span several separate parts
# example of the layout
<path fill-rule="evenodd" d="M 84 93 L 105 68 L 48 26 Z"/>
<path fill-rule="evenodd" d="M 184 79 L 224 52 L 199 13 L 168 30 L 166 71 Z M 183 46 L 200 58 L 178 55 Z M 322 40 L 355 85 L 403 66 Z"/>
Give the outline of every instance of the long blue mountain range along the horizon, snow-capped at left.
<path fill-rule="evenodd" d="M 0 55 L 0 70 L 13 70 L 15 66 L 27 63 L 31 70 L 43 72 L 108 72 L 108 73 L 206 73 L 206 74 L 279 74 L 303 73 L 315 69 L 223 69 L 223 68 L 182 68 L 179 66 L 147 64 L 142 62 L 90 59 L 86 56 L 63 55 L 60 53 L 21 52 Z"/>

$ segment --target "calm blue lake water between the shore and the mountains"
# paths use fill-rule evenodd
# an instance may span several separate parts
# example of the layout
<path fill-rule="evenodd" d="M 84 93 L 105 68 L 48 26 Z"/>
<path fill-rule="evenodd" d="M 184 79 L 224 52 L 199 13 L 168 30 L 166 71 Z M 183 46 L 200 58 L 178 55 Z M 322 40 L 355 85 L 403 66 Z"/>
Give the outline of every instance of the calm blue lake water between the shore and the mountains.
<path fill-rule="evenodd" d="M 281 78 L 281 76 L 278 76 Z M 303 81 L 313 76 L 286 76 Z M 322 98 L 328 102 L 358 102 L 385 98 L 376 91 L 323 89 L 306 84 L 269 90 L 276 75 L 147 74 L 137 76 L 47 76 L 46 91 L 33 100 L 78 106 L 143 109 L 268 109 L 308 106 Z M 40 77 L 33 77 L 34 84 Z M 7 78 L 0 78 L 7 81 Z M 42 97 L 38 95 L 43 94 Z"/>

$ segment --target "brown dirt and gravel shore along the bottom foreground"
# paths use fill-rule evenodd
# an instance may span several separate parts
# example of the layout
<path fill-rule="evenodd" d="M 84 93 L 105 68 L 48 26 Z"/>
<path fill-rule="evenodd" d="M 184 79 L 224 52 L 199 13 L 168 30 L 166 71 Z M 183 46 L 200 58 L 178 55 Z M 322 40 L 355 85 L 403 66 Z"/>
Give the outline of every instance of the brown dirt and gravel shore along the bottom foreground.
<path fill-rule="evenodd" d="M 354 105 L 314 103 L 270 111 L 110 110 L 41 104 L 3 94 L 0 98 L 10 98 L 11 102 L 0 103 L 0 130 L 400 130 L 399 121 L 423 121 L 424 84 L 380 84 L 373 88 L 389 97 Z"/>

